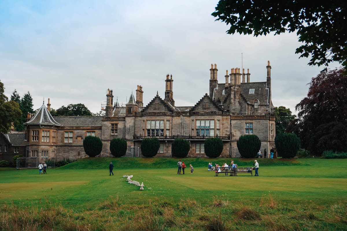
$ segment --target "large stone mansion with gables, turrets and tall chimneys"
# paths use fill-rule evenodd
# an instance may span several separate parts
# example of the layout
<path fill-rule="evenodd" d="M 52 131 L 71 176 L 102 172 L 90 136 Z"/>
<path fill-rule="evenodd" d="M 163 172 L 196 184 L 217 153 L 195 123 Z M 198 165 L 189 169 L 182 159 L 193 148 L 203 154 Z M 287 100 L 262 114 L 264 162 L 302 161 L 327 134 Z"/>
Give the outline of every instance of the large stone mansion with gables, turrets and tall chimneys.
<path fill-rule="evenodd" d="M 0 159 L 15 154 L 25 157 L 77 159 L 87 157 L 83 139 L 98 136 L 103 142 L 100 156 L 111 156 L 114 138 L 127 141 L 128 150 L 140 147 L 142 139 L 157 137 L 160 148 L 156 157 L 171 157 L 171 144 L 184 138 L 191 144 L 188 157 L 206 157 L 204 140 L 220 137 L 224 143 L 221 157 L 240 156 L 236 141 L 241 135 L 256 134 L 261 150 L 274 146 L 275 117 L 271 101 L 271 66 L 268 61 L 264 82 L 251 82 L 249 69 L 232 68 L 219 83 L 217 65 L 211 64 L 209 93 L 194 106 L 176 106 L 172 75 L 166 75 L 165 96 L 158 95 L 146 106 L 143 90 L 137 86 L 136 98 L 130 95 L 125 107 L 113 104 L 113 92 L 107 90 L 105 116 L 58 116 L 50 114 L 50 103 L 35 114 L 27 115 L 25 131 L 0 136 Z M 265 78 L 264 78 L 265 80 Z M 141 153 L 140 153 L 141 154 Z"/>

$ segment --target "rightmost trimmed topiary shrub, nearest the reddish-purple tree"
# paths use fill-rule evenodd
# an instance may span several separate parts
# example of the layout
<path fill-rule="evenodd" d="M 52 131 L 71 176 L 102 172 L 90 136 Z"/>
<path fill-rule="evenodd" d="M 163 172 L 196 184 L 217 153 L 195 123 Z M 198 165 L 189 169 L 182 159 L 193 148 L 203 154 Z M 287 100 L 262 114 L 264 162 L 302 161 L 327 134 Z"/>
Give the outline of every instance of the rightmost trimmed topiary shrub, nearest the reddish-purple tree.
<path fill-rule="evenodd" d="M 300 143 L 300 138 L 294 133 L 279 133 L 275 137 L 277 155 L 282 158 L 294 158 Z"/>

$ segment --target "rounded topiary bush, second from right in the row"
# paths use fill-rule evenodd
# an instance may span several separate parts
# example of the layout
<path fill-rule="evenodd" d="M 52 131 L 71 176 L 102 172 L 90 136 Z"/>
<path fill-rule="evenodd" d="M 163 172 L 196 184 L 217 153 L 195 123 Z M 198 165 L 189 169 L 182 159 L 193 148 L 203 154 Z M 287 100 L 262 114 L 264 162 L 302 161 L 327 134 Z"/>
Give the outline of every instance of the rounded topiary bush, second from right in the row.
<path fill-rule="evenodd" d="M 260 150 L 261 141 L 257 135 L 242 135 L 236 145 L 241 157 L 253 158 Z"/>

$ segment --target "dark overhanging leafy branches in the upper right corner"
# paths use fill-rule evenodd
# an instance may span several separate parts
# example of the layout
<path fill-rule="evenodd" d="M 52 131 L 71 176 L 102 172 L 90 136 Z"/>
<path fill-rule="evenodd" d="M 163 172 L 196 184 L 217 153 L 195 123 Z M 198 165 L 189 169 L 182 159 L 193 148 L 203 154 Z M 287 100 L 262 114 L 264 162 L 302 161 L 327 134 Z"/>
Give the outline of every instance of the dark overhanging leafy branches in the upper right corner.
<path fill-rule="evenodd" d="M 347 66 L 347 2 L 315 1 L 229 1 L 220 0 L 212 16 L 227 25 L 228 34 L 266 35 L 296 32 L 300 57 L 311 57 L 308 64 L 338 61 Z"/>

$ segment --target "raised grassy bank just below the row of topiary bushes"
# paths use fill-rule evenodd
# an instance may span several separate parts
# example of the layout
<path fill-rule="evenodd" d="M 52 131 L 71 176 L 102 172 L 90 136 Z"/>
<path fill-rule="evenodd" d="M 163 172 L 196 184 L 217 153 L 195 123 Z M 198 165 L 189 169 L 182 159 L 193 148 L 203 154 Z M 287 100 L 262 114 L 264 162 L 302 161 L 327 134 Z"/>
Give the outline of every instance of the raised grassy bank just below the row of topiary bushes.
<path fill-rule="evenodd" d="M 210 162 L 230 164 L 231 160 L 234 160 L 239 167 L 253 166 L 255 159 L 243 159 L 243 158 L 180 158 L 185 162 L 187 166 L 192 165 L 194 167 L 207 167 Z M 128 169 L 128 168 L 176 168 L 179 158 L 134 158 L 134 157 L 88 157 L 78 161 L 69 163 L 62 166 L 59 169 L 108 169 L 109 163 L 112 162 L 116 169 Z M 307 165 L 296 159 L 257 159 L 261 166 L 295 166 L 295 165 Z"/>

